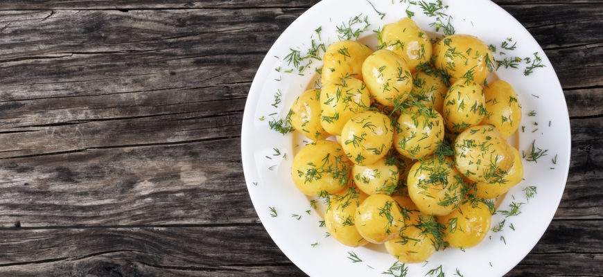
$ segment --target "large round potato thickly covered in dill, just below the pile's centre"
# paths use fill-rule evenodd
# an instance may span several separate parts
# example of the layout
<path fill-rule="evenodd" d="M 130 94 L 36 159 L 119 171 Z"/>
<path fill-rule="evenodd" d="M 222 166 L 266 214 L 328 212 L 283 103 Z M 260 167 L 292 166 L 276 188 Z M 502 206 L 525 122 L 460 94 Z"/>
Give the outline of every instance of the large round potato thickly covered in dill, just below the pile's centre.
<path fill-rule="evenodd" d="M 408 172 L 408 195 L 426 215 L 447 215 L 463 197 L 462 176 L 448 157 L 417 161 Z"/>

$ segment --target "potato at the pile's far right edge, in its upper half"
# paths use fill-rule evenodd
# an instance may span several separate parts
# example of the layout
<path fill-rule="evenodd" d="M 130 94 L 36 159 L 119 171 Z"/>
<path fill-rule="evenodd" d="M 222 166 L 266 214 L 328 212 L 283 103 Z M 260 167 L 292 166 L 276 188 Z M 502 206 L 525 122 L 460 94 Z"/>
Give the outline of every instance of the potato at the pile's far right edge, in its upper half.
<path fill-rule="evenodd" d="M 521 121 L 521 105 L 513 87 L 508 82 L 496 80 L 484 87 L 484 97 L 487 115 L 483 124 L 493 125 L 509 139 Z"/>

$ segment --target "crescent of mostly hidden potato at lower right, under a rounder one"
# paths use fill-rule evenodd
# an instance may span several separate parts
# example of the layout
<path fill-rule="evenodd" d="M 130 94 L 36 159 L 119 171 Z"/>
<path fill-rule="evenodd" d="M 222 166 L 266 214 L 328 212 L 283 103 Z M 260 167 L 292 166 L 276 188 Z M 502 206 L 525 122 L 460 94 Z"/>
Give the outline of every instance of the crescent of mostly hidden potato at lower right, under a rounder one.
<path fill-rule="evenodd" d="M 521 182 L 523 179 L 523 163 L 521 163 L 521 155 L 514 147 L 511 147 L 511 149 L 513 150 L 514 161 L 513 166 L 507 171 L 507 175 L 502 177 L 502 182 L 500 183 L 476 183 L 475 189 L 477 190 L 477 193 L 475 195 L 477 197 L 483 199 L 496 198 L 498 195 L 507 193 L 513 186 Z"/>

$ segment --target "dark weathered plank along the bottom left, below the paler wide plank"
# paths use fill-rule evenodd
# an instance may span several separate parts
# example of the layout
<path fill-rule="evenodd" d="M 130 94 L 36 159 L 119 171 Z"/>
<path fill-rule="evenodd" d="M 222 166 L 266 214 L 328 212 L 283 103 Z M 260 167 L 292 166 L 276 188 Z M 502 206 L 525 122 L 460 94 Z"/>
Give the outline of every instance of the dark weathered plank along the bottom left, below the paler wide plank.
<path fill-rule="evenodd" d="M 198 271 L 290 262 L 259 224 L 210 227 L 2 230 L 0 272 L 24 264 L 57 266 L 105 257 Z M 57 268 L 58 269 L 58 268 Z"/>

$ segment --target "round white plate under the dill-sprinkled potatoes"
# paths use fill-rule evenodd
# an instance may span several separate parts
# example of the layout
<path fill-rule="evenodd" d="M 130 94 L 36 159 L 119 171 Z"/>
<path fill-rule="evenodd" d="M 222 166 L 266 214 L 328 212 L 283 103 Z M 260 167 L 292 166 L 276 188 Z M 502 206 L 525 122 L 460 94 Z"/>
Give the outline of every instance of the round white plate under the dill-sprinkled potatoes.
<path fill-rule="evenodd" d="M 325 238 L 326 229 L 319 226 L 322 217 L 310 207 L 308 198 L 295 188 L 290 178 L 295 146 L 292 134 L 283 136 L 268 125 L 272 118 L 286 116 L 295 98 L 305 91 L 308 83 L 313 82 L 315 68 L 322 66 L 322 62 L 316 60 L 303 72 L 304 75 L 297 74 L 295 69 L 293 73 L 285 72 L 293 67 L 285 61 L 290 48 L 304 55 L 311 46 L 311 39 L 319 41 L 315 31 L 317 28 L 321 28 L 320 38 L 328 46 L 339 40 L 335 31 L 337 26 L 342 23 L 347 25 L 351 17 L 362 14 L 361 18 L 366 16 L 371 26 L 360 38 L 364 37 L 363 42 L 370 42 L 374 40 L 372 30 L 406 17 L 405 10 L 410 7 L 415 13 L 412 19 L 419 27 L 431 35 L 435 31 L 429 26 L 435 18 L 423 15 L 419 6 L 410 5 L 408 1 L 399 3 L 399 0 L 372 2 L 374 8 L 366 0 L 325 0 L 304 12 L 268 51 L 256 73 L 245 105 L 241 151 L 250 197 L 272 240 L 297 267 L 310 276 L 387 276 L 383 271 L 396 262 L 382 246 L 351 248 L 333 238 Z M 548 152 L 537 163 L 524 159 L 525 180 L 509 191 L 498 208 L 509 210 L 512 202 L 524 203 L 520 206 L 521 214 L 505 218 L 501 213 L 496 213 L 492 217 L 493 226 L 506 219 L 502 231 L 490 231 L 478 246 L 464 252 L 450 248 L 436 252 L 427 263 L 409 264 L 408 276 L 425 276 L 430 269 L 440 265 L 446 276 L 453 276 L 457 269 L 464 276 L 502 276 L 530 252 L 559 206 L 570 161 L 568 110 L 561 85 L 548 58 L 516 19 L 486 0 L 445 0 L 444 5 L 449 5 L 446 13 L 453 16 L 451 23 L 456 33 L 480 37 L 486 44 L 497 46 L 498 51 L 507 37 L 517 42 L 515 50 L 504 50 L 506 56 L 497 53 L 495 56 L 498 59 L 514 56 L 533 58 L 533 53 L 539 53 L 545 67 L 535 69 L 532 74 L 523 74 L 526 64 L 522 63 L 519 69 L 500 68 L 496 75 L 512 84 L 523 107 L 521 125 L 525 129 L 521 132 L 520 127 L 518 133 L 520 152 L 530 153 L 533 141 L 537 148 Z M 377 11 L 385 13 L 385 17 L 382 19 Z M 276 70 L 279 68 L 280 72 Z M 281 102 L 272 105 L 277 91 L 282 93 L 279 97 Z M 531 111 L 536 113 L 535 116 L 528 115 Z M 262 117 L 264 120 L 260 120 Z M 274 148 L 279 150 L 280 155 L 276 156 Z M 283 157 L 284 154 L 287 159 Z M 556 159 L 556 163 L 553 163 L 553 159 Z M 536 186 L 537 190 L 529 202 L 523 191 L 528 186 Z M 275 209 L 277 217 L 271 216 L 270 207 Z M 309 214 L 306 213 L 308 210 Z M 355 253 L 362 262 L 352 262 L 350 252 Z"/>

